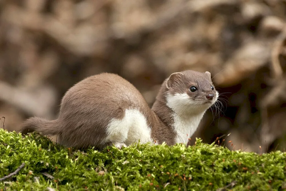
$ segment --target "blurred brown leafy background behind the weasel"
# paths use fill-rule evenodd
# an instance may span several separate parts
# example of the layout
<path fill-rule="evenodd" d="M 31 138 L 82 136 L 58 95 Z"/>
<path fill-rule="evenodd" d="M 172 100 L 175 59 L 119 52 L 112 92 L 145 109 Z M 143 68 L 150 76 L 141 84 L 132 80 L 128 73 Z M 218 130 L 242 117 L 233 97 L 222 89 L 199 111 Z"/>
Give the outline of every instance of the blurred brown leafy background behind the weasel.
<path fill-rule="evenodd" d="M 191 69 L 210 71 L 222 99 L 190 143 L 285 151 L 285 0 L 1 0 L 0 47 L 9 131 L 57 118 L 87 76 L 117 73 L 152 106 L 168 75 Z"/>

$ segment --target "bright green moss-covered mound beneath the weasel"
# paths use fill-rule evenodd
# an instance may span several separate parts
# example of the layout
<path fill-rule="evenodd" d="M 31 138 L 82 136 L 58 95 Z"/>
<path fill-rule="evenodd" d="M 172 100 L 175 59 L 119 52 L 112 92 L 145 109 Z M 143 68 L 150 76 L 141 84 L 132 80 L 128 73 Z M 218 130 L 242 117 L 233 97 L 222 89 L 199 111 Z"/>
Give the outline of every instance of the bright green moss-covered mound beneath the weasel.
<path fill-rule="evenodd" d="M 283 190 L 286 153 L 196 145 L 133 145 L 71 151 L 0 129 L 0 190 Z"/>

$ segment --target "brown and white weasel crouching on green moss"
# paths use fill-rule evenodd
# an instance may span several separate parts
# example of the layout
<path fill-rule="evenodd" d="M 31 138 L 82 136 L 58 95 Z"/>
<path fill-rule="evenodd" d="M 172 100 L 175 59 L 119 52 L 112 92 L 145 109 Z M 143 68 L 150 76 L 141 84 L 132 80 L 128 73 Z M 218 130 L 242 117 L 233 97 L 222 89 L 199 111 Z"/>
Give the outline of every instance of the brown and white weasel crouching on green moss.
<path fill-rule="evenodd" d="M 139 90 L 117 74 L 100 73 L 69 88 L 61 99 L 59 117 L 30 117 L 21 133 L 58 135 L 60 144 L 84 149 L 119 149 L 134 142 L 186 143 L 218 99 L 210 72 L 186 70 L 162 83 L 152 108 Z"/>

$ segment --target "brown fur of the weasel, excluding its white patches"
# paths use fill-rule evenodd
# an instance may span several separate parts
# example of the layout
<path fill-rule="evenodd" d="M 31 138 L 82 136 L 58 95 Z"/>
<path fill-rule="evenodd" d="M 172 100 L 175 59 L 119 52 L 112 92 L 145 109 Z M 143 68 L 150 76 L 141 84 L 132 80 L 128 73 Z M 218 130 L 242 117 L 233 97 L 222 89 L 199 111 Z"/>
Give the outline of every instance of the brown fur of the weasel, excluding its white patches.
<path fill-rule="evenodd" d="M 207 73 L 190 70 L 174 73 L 163 82 L 151 110 L 142 94 L 117 74 L 90 76 L 67 90 L 61 101 L 58 119 L 47 121 L 31 117 L 24 121 L 21 132 L 59 135 L 60 143 L 67 147 L 80 149 L 94 146 L 101 149 L 111 144 L 101 142 L 106 137 L 109 121 L 112 118 L 122 119 L 124 111 L 132 108 L 146 117 L 153 139 L 173 145 L 176 133 L 170 117 L 173 111 L 166 105 L 166 92 L 186 92 L 192 84 L 201 86 L 201 92 L 206 92 L 210 83 Z M 204 96 L 201 92 L 197 92 L 193 99 Z"/>

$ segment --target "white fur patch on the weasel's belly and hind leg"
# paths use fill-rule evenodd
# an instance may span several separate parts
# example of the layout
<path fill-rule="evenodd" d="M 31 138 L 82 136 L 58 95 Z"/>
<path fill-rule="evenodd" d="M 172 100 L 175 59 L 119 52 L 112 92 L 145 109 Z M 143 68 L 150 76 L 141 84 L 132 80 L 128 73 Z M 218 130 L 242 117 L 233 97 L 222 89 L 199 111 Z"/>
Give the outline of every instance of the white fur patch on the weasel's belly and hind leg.
<path fill-rule="evenodd" d="M 136 109 L 126 109 L 123 119 L 112 119 L 107 126 L 107 137 L 104 142 L 132 143 L 152 142 L 151 128 L 148 127 L 146 118 Z"/>

